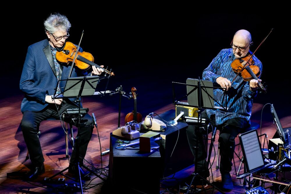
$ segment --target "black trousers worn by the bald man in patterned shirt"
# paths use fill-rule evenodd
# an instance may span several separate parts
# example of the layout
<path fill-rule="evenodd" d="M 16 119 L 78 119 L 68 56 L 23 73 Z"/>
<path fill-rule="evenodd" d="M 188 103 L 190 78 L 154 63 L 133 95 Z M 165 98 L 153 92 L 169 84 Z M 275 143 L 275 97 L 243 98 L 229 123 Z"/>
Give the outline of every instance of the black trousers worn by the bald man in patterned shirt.
<path fill-rule="evenodd" d="M 233 154 L 235 151 L 235 138 L 239 133 L 243 133 L 244 129 L 249 127 L 249 122 L 244 118 L 233 118 L 229 119 L 223 124 L 215 125 L 215 115 L 211 115 L 209 118 L 206 114 L 206 110 L 201 113 L 201 117 L 209 120 L 213 127 L 217 127 L 220 131 L 218 142 L 220 143 L 220 172 L 226 173 L 231 171 L 233 165 Z M 206 128 L 206 127 L 205 127 Z M 198 172 L 208 174 L 206 158 L 207 153 L 204 149 L 203 139 L 207 138 L 207 130 L 202 128 L 195 130 L 195 125 L 189 125 L 187 128 L 187 138 L 190 145 L 190 149 L 194 155 L 194 161 L 197 160 Z M 208 133 L 212 132 L 211 127 Z M 205 138 L 203 138 L 205 137 Z M 198 143 L 198 144 L 196 144 Z M 198 146 L 198 156 L 196 157 L 196 149 L 194 147 Z"/>

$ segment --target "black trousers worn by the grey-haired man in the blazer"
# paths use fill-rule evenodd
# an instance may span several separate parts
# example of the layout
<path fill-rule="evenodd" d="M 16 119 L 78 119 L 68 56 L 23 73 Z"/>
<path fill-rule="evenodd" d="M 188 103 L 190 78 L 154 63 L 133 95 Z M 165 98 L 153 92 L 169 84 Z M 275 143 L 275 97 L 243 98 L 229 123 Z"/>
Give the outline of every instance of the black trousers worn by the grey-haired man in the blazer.
<path fill-rule="evenodd" d="M 77 108 L 69 100 L 64 100 L 61 105 L 58 106 L 58 111 L 62 114 L 67 108 Z M 38 124 L 49 117 L 54 117 L 59 119 L 59 113 L 57 111 L 55 104 L 49 104 L 42 111 L 34 112 L 34 111 L 24 111 L 22 121 L 21 121 L 21 129 L 24 137 L 24 141 L 26 143 L 27 149 L 29 151 L 29 156 L 31 163 L 34 166 L 40 166 L 45 161 L 42 155 L 42 149 L 40 146 L 40 141 L 38 139 L 37 134 L 37 126 Z M 77 123 L 73 122 L 71 119 L 65 119 L 65 122 L 71 123 L 76 126 Z M 85 123 L 84 126 L 80 127 L 78 131 L 77 137 L 79 138 L 79 162 L 82 165 L 83 160 L 87 151 L 88 143 L 91 139 L 93 133 L 93 124 L 92 117 L 86 114 L 81 118 L 81 123 Z M 73 150 L 70 162 L 77 163 L 76 158 L 76 149 Z"/>

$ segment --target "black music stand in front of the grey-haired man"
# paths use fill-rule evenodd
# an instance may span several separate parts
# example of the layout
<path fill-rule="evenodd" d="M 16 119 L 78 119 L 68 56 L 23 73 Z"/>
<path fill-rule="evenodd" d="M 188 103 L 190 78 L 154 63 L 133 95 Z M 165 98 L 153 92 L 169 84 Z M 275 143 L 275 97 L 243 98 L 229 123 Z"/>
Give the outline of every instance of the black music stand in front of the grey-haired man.
<path fill-rule="evenodd" d="M 81 116 L 82 116 L 81 115 L 82 113 L 80 112 L 81 111 L 81 99 L 80 98 L 81 98 L 81 96 L 93 95 L 95 90 L 96 90 L 97 83 L 99 82 L 99 80 L 100 80 L 99 76 L 72 77 L 69 79 L 60 80 L 60 81 L 66 81 L 65 89 L 60 94 L 56 94 L 56 90 L 55 90 L 54 97 L 52 97 L 52 99 L 75 97 L 75 102 L 79 106 L 79 112 L 78 112 L 78 118 L 77 118 L 78 131 L 80 130 Z M 58 83 L 57 83 L 57 86 L 58 86 Z M 78 166 L 78 171 L 79 171 L 79 182 L 80 182 L 81 193 L 83 193 L 80 165 L 79 165 L 79 139 L 80 139 L 80 137 L 76 137 L 75 139 L 76 139 L 76 143 L 74 145 L 74 149 L 76 149 L 77 166 Z M 102 179 L 104 181 L 103 177 L 100 177 L 100 175 L 97 175 L 95 172 L 93 172 L 88 167 L 83 166 L 83 168 L 85 168 L 86 170 L 91 172 L 93 175 L 99 177 L 100 179 Z M 51 180 L 52 178 L 56 177 L 57 175 L 62 174 L 64 171 L 66 171 L 68 169 L 69 169 L 69 167 L 63 169 L 62 171 L 58 172 L 57 174 L 53 175 L 52 177 L 49 177 L 48 180 Z M 64 175 L 64 176 L 68 177 L 66 175 Z M 68 178 L 72 179 L 71 177 L 68 177 Z M 73 180 L 76 181 L 75 179 L 73 179 Z"/>

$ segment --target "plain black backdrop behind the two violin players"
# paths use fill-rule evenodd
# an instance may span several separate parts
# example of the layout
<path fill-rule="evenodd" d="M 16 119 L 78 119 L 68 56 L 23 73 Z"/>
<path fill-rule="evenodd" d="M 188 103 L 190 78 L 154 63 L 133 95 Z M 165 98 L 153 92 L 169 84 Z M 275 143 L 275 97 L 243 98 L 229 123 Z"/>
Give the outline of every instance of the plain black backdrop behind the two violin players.
<path fill-rule="evenodd" d="M 53 4 L 54 2 L 50 2 Z M 57 2 L 55 2 L 57 3 Z M 69 2 L 66 2 L 69 3 Z M 187 9 L 186 9 L 187 8 Z M 43 21 L 50 13 L 68 17 L 72 24 L 68 41 L 90 52 L 98 65 L 109 66 L 116 76 L 109 81 L 109 90 L 122 85 L 125 92 L 137 88 L 138 111 L 143 116 L 172 102 L 172 81 L 185 83 L 188 77 L 198 78 L 221 49 L 229 48 L 233 34 L 239 29 L 251 32 L 254 51 L 269 35 L 255 54 L 263 64 L 261 79 L 268 93 L 258 95 L 254 102 L 274 103 L 284 109 L 279 117 L 290 115 L 290 42 L 288 22 L 283 14 L 198 14 L 185 8 L 121 9 L 103 7 L 92 10 L 25 10 L 11 15 L 1 13 L 2 97 L 20 95 L 19 79 L 27 47 L 46 38 Z M 16 18 L 16 19 L 13 19 Z M 105 84 L 100 84 L 100 90 Z M 178 92 L 186 92 L 178 88 Z M 22 96 L 19 97 L 22 99 Z M 118 96 L 102 100 L 118 109 Z M 123 100 L 123 112 L 133 102 Z M 268 108 L 269 109 L 269 108 Z"/>

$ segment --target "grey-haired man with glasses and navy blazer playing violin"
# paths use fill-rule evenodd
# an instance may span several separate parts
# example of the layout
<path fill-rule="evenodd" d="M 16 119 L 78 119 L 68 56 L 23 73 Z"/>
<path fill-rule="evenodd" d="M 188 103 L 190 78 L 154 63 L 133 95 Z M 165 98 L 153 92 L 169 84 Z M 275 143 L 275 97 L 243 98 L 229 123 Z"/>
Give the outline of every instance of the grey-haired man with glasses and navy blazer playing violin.
<path fill-rule="evenodd" d="M 71 24 L 66 16 L 56 13 L 45 20 L 44 26 L 48 39 L 28 47 L 20 79 L 20 90 L 25 94 L 21 104 L 23 113 L 21 129 L 33 165 L 32 170 L 25 177 L 26 180 L 35 179 L 45 172 L 44 157 L 38 139 L 38 124 L 50 117 L 59 119 L 60 115 L 68 108 L 78 108 L 74 99 L 52 100 L 57 81 L 61 78 L 67 79 L 70 72 L 70 65 L 58 63 L 56 52 L 58 48 L 63 47 L 66 39 L 70 36 L 68 31 Z M 80 51 L 82 50 L 80 49 Z M 102 69 L 93 66 L 89 75 L 100 75 L 102 72 Z M 78 69 L 72 71 L 72 77 L 83 75 Z M 57 93 L 60 93 L 60 86 L 57 88 Z M 66 122 L 76 125 L 71 120 Z M 81 124 L 77 136 L 81 137 L 79 139 L 79 162 L 82 165 L 94 125 L 89 114 L 82 118 L 81 123 L 84 124 Z M 78 156 L 76 156 L 74 149 L 69 166 L 69 172 L 74 175 L 78 174 L 75 165 L 77 161 Z M 90 177 L 84 177 L 84 179 L 90 179 Z"/>

